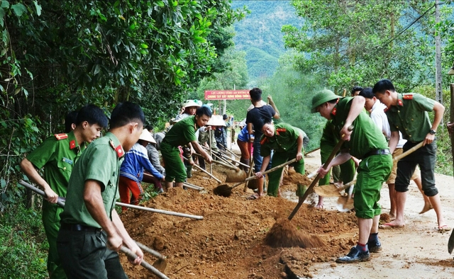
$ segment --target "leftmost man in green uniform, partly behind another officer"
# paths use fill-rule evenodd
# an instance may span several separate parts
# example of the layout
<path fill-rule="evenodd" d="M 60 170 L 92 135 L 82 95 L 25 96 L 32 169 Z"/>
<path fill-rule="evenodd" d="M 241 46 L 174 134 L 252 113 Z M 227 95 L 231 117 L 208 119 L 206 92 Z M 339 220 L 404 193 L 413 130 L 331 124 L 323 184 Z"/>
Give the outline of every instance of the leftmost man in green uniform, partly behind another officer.
<path fill-rule="evenodd" d="M 43 201 L 43 224 L 49 242 L 50 278 L 66 278 L 57 254 L 57 234 L 63 209 L 55 203 L 58 197 L 66 197 L 74 163 L 85 149 L 85 143 L 99 137 L 101 129 L 107 126 L 107 118 L 97 106 L 87 105 L 80 110 L 74 123 L 74 130 L 45 139 L 21 161 L 22 171 L 47 195 Z M 44 177 L 35 168 L 44 168 Z"/>

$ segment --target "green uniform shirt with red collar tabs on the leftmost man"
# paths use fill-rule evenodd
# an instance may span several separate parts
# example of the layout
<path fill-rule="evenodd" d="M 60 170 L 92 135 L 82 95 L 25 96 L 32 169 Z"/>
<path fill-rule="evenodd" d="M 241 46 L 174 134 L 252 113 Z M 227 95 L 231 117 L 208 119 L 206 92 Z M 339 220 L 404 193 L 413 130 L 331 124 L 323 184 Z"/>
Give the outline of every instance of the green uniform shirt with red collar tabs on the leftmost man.
<path fill-rule="evenodd" d="M 65 135 L 67 137 L 65 138 Z M 79 159 L 85 144 L 77 144 L 74 132 L 58 134 L 45 139 L 26 157 L 38 169 L 44 167 L 44 180 L 60 197 L 66 197 L 68 181 L 74 163 Z M 44 200 L 43 207 L 52 205 Z"/>

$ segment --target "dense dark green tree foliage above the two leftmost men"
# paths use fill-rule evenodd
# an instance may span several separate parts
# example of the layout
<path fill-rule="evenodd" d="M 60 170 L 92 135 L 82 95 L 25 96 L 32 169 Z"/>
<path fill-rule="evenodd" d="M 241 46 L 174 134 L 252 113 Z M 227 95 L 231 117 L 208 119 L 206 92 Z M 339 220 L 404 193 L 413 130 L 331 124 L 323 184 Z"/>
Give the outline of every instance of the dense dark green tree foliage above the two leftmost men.
<path fill-rule="evenodd" d="M 6 185 L 21 177 L 23 154 L 62 132 L 65 115 L 86 103 L 109 115 L 134 101 L 147 123 L 162 125 L 201 79 L 228 67 L 219 59 L 233 45 L 228 26 L 244 13 L 217 0 L 0 0 Z M 1 186 L 0 201 L 8 200 Z"/>

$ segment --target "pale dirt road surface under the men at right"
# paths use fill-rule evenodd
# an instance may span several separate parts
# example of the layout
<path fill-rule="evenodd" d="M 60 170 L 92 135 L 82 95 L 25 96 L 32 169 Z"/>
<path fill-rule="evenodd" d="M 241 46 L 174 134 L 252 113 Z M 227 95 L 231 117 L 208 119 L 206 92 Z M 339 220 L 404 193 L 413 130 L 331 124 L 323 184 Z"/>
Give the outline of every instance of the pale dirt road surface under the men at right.
<path fill-rule="evenodd" d="M 306 158 L 308 166 L 319 164 L 319 155 Z M 445 220 L 454 227 L 454 179 L 436 174 L 436 185 L 441 195 Z M 433 210 L 423 215 L 421 193 L 411 184 L 406 201 L 406 224 L 403 229 L 380 229 L 383 249 L 372 254 L 365 263 L 337 264 L 315 263 L 310 271 L 314 278 L 454 278 L 453 256 L 448 254 L 448 239 L 451 232 L 437 232 L 436 215 Z M 326 210 L 335 210 L 335 198 L 326 199 Z M 380 204 L 382 212 L 389 212 L 387 186 L 382 188 Z M 355 239 L 355 230 L 345 237 Z"/>

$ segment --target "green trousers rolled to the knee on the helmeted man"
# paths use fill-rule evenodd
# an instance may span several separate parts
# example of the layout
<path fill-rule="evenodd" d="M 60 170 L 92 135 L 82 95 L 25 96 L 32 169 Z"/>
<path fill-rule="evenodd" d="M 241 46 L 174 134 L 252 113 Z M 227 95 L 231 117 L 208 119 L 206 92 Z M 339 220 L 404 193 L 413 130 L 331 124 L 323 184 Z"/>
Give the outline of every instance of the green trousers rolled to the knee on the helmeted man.
<path fill-rule="evenodd" d="M 391 170 L 391 154 L 372 155 L 362 159 L 358 166 L 355 196 L 353 197 L 356 217 L 372 219 L 380 215 L 382 212 L 382 207 L 378 203 L 380 190 L 384 181 L 387 181 Z"/>

